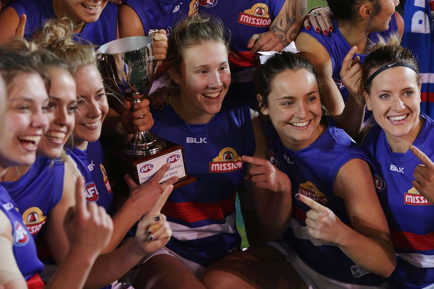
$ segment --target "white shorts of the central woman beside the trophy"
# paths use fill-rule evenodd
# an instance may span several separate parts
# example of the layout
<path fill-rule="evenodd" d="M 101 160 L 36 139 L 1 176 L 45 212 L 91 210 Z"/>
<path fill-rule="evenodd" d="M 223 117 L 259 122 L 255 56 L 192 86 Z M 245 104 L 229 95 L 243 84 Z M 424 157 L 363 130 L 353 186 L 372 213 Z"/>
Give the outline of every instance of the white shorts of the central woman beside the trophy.
<path fill-rule="evenodd" d="M 161 248 L 160 250 L 155 251 L 154 253 L 151 253 L 149 255 L 147 255 L 146 257 L 143 257 L 143 259 L 141 259 L 131 270 L 129 270 L 123 277 L 122 277 L 122 281 L 128 283 L 128 284 L 132 284 L 135 276 L 137 275 L 138 270 L 140 269 L 140 266 L 142 264 L 144 264 L 145 262 L 147 262 L 149 259 L 151 259 L 152 257 L 156 256 L 156 255 L 160 255 L 160 254 L 167 254 L 170 255 L 176 259 L 178 259 L 179 261 L 181 261 L 182 264 L 184 264 L 199 280 L 201 279 L 203 272 L 205 271 L 205 267 L 195 263 L 191 260 L 188 260 L 186 258 L 181 257 L 180 255 L 178 255 L 177 253 L 175 253 L 174 251 L 164 247 Z"/>

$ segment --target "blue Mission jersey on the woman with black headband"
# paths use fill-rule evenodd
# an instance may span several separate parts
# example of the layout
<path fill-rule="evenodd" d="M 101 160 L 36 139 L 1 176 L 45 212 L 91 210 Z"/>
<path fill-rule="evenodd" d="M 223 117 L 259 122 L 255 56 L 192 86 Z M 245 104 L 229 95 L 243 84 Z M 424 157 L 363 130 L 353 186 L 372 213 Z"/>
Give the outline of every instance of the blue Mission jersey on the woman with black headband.
<path fill-rule="evenodd" d="M 422 130 L 413 145 L 434 159 L 434 122 L 421 114 Z M 408 150 L 392 152 L 384 130 L 375 125 L 362 147 L 375 167 L 374 181 L 398 255 L 389 278 L 391 288 L 422 288 L 434 284 L 434 206 L 413 187 L 413 171 L 420 160 Z"/>

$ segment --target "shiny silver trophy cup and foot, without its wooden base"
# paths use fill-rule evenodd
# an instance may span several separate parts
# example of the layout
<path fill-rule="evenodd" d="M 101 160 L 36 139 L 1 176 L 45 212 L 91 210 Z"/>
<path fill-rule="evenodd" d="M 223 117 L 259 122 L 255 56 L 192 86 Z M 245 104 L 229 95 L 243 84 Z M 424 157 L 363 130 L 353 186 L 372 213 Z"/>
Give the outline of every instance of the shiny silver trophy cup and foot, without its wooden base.
<path fill-rule="evenodd" d="M 154 81 L 158 65 L 153 47 L 155 32 L 151 30 L 149 37 L 133 36 L 110 41 L 95 52 L 106 90 L 119 99 L 131 102 L 133 110 L 135 104 L 148 97 Z M 166 141 L 150 131 L 136 131 L 124 152 L 148 156 L 158 153 L 165 146 Z"/>

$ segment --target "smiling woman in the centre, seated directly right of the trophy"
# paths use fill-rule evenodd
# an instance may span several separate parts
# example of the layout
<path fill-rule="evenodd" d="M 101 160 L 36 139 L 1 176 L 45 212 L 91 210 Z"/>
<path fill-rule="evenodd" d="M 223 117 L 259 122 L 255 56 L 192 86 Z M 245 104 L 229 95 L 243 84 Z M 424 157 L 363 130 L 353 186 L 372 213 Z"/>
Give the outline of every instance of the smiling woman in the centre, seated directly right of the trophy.
<path fill-rule="evenodd" d="M 197 180 L 172 192 L 162 210 L 172 238 L 131 277 L 136 288 L 203 288 L 204 268 L 240 249 L 235 222 L 235 196 L 245 173 L 240 156 L 255 153 L 256 127 L 247 106 L 223 104 L 231 73 L 218 20 L 181 22 L 169 39 L 166 68 L 177 91 L 166 108 L 153 112 L 151 131 L 183 147 L 187 171 Z"/>

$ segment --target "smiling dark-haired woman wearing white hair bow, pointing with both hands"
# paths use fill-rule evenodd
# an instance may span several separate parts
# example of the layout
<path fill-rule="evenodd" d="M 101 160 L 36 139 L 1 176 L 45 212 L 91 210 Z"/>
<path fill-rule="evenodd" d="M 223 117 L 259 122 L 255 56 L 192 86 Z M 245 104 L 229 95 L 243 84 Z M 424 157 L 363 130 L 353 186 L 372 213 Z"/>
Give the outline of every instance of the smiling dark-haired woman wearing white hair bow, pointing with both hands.
<path fill-rule="evenodd" d="M 324 115 L 312 64 L 282 52 L 260 67 L 259 79 L 269 160 L 242 159 L 263 233 L 276 239 L 229 256 L 229 268 L 211 265 L 206 284 L 257 288 L 272 278 L 279 287 L 284 275 L 255 266 L 277 269 L 288 260 L 312 288 L 386 287 L 395 255 L 370 160 Z"/>

